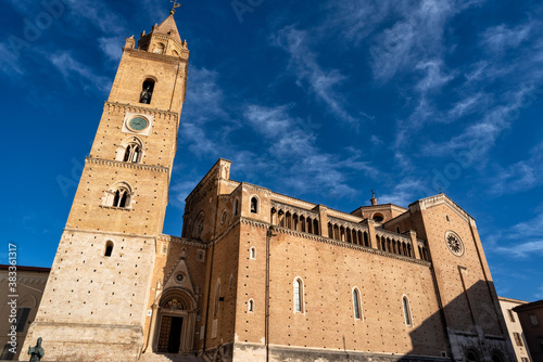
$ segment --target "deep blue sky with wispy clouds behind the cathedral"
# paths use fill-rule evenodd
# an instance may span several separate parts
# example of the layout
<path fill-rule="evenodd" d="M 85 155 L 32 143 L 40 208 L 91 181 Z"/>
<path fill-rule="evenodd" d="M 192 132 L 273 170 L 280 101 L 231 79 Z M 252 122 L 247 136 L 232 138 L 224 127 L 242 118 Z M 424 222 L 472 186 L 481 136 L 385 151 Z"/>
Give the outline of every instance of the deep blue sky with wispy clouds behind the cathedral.
<path fill-rule="evenodd" d="M 125 38 L 168 1 L 2 1 L 2 238 L 50 267 Z M 218 157 L 343 211 L 440 188 L 477 220 L 500 295 L 543 299 L 543 5 L 191 1 L 164 232 Z M 7 247 L 0 250 L 7 261 Z M 3 261 L 3 262 L 5 262 Z"/>

